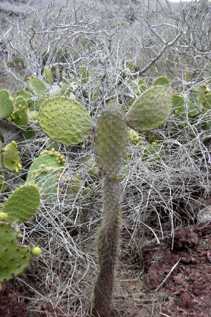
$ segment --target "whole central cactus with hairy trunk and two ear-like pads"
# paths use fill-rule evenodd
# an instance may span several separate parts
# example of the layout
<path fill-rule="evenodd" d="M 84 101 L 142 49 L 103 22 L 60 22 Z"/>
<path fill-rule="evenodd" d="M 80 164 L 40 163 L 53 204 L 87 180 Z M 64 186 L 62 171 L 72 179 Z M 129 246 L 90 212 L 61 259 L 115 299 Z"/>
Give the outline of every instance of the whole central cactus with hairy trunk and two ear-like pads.
<path fill-rule="evenodd" d="M 99 272 L 95 282 L 94 316 L 109 314 L 120 232 L 120 179 L 127 149 L 127 126 L 138 131 L 156 129 L 168 119 L 172 99 L 168 87 L 146 90 L 131 106 L 126 116 L 116 109 L 103 110 L 95 124 L 84 107 L 64 97 L 42 103 L 38 120 L 43 132 L 57 142 L 73 145 L 93 132 L 95 159 L 103 181 L 103 224 L 98 233 Z"/>

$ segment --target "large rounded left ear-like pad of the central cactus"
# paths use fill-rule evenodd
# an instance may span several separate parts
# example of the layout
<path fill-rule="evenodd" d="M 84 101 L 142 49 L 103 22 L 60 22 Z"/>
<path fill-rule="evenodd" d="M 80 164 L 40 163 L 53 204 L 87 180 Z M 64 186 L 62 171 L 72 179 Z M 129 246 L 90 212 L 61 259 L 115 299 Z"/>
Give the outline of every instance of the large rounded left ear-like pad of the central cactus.
<path fill-rule="evenodd" d="M 49 138 L 65 145 L 82 142 L 94 126 L 84 107 L 65 97 L 44 101 L 40 107 L 38 121 Z"/>

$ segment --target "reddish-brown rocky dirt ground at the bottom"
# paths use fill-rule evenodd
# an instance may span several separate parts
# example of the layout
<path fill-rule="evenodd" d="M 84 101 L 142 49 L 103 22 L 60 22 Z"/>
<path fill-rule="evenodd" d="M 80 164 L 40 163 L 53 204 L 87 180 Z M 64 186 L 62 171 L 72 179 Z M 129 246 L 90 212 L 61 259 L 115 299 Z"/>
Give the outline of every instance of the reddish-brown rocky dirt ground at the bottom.
<path fill-rule="evenodd" d="M 136 298 L 136 305 L 140 307 L 140 311 L 145 308 L 145 316 L 210 317 L 211 222 L 178 228 L 174 232 L 173 250 L 171 250 L 172 238 L 169 238 L 170 231 L 169 222 L 164 225 L 164 240 L 161 245 L 158 246 L 156 241 L 146 245 L 142 250 L 140 263 L 134 255 L 134 250 L 131 250 L 133 257 L 129 252 L 121 253 L 124 255 L 116 265 L 119 278 L 132 278 L 138 276 L 140 271 L 144 272 L 142 274 L 144 288 L 140 288 L 138 283 L 137 285 L 127 283 L 125 296 Z M 124 235 L 123 232 L 122 244 L 126 245 L 130 237 L 130 233 Z M 156 297 L 158 299 L 161 294 L 160 315 L 158 312 L 153 315 L 151 305 L 148 306 L 148 303 L 153 302 Z M 33 292 L 23 287 L 23 284 L 16 279 L 3 284 L 0 290 L 0 316 L 65 316 L 65 312 L 62 313 L 61 309 L 57 314 L 50 305 L 43 306 L 42 314 L 33 314 L 27 310 L 30 297 L 33 298 Z M 128 316 L 124 307 L 118 309 L 117 299 L 115 306 L 111 316 Z M 138 315 L 131 311 L 130 316 Z"/>

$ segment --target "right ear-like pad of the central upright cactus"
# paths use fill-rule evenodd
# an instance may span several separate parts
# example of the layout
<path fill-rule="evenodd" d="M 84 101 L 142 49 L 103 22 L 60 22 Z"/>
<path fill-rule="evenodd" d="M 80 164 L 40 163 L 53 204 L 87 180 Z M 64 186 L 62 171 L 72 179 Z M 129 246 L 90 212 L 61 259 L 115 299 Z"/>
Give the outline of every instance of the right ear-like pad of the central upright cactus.
<path fill-rule="evenodd" d="M 172 99 L 167 87 L 149 88 L 127 112 L 127 125 L 139 131 L 156 129 L 168 119 L 171 107 Z"/>

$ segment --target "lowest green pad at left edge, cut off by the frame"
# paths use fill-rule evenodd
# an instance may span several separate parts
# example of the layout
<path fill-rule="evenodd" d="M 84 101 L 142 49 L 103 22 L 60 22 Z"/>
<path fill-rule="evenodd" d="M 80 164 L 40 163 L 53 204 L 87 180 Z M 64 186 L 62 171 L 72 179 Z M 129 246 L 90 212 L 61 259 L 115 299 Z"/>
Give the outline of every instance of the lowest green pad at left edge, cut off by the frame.
<path fill-rule="evenodd" d="M 31 249 L 19 247 L 17 232 L 8 223 L 0 223 L 0 283 L 16 277 L 27 267 Z"/>

